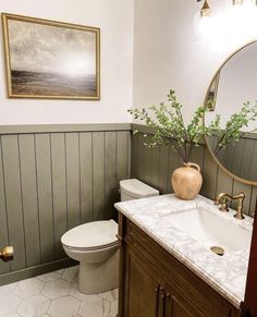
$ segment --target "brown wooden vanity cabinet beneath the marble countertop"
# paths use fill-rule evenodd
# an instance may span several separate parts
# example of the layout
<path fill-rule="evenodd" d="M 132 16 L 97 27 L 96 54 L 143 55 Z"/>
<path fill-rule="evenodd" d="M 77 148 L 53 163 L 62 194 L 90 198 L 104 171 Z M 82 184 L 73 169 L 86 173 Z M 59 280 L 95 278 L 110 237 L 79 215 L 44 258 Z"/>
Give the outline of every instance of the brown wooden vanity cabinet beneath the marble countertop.
<path fill-rule="evenodd" d="M 237 317 L 234 307 L 139 228 L 119 215 L 118 317 Z"/>

